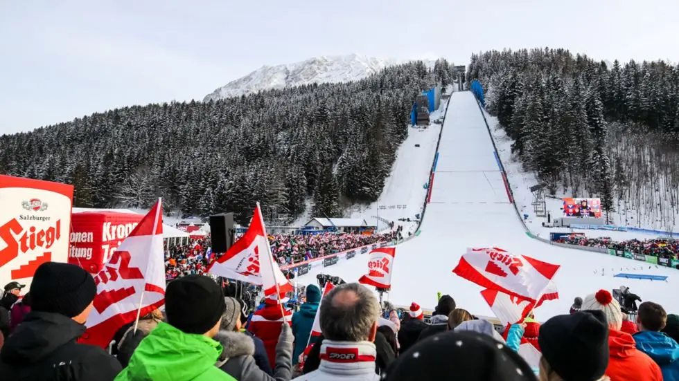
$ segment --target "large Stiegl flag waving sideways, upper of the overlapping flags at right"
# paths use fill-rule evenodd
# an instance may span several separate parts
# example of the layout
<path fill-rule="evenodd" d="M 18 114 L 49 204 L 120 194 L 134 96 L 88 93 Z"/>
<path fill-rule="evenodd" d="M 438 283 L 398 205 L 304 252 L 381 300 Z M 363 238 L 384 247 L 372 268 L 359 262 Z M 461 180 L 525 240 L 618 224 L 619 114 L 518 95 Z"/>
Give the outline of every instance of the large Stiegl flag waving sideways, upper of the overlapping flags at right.
<path fill-rule="evenodd" d="M 452 272 L 484 288 L 535 302 L 559 267 L 500 248 L 470 248 Z"/>

